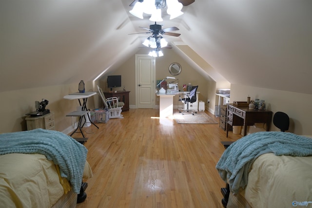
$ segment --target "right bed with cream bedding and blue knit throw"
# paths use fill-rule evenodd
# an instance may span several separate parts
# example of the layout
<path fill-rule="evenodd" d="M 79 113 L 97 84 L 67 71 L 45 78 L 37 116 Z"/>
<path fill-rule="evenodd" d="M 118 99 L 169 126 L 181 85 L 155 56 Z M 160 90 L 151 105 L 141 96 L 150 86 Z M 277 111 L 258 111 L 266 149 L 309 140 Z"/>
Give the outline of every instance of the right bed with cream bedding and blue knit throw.
<path fill-rule="evenodd" d="M 306 136 L 252 133 L 231 144 L 216 169 L 230 190 L 222 202 L 227 208 L 312 207 L 312 139 Z"/>

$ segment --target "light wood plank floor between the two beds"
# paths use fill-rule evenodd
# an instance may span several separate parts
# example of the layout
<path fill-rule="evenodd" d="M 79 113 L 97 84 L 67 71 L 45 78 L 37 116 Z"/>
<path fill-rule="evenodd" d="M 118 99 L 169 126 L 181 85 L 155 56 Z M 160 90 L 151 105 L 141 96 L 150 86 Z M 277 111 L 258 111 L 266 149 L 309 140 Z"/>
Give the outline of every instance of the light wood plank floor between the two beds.
<path fill-rule="evenodd" d="M 159 119 L 157 109 L 122 114 L 99 129 L 83 128 L 93 177 L 78 208 L 222 208 L 220 142 L 240 135 L 226 138 L 218 124 Z"/>

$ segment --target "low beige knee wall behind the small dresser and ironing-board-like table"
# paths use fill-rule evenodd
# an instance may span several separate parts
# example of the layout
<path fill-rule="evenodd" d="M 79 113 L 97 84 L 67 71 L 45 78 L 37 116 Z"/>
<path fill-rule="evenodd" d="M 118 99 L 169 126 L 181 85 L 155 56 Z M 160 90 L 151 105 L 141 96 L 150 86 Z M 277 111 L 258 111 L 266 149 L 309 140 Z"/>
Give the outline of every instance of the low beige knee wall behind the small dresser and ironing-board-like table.
<path fill-rule="evenodd" d="M 78 92 L 79 81 L 71 85 L 46 86 L 0 93 L 0 133 L 27 130 L 25 114 L 36 111 L 35 101 L 41 101 L 42 98 L 49 101 L 46 108 L 55 113 L 55 130 L 69 133 L 68 131 L 73 129 L 72 125 L 75 124 L 76 118 L 66 117 L 66 114 L 76 111 L 79 102 L 78 100 L 64 99 L 63 96 Z M 85 89 L 86 91 L 96 90 L 93 82 L 85 82 Z M 98 95 L 88 99 L 87 107 L 98 108 Z"/>

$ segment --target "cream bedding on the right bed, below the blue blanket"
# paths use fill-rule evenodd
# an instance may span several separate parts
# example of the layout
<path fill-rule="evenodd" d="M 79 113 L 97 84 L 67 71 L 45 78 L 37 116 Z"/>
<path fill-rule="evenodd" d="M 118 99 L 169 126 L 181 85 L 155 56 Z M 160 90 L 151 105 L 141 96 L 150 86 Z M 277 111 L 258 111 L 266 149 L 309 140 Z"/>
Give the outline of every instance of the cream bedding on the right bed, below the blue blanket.
<path fill-rule="evenodd" d="M 254 208 L 312 207 L 312 156 L 259 156 L 249 172 L 245 198 Z"/>

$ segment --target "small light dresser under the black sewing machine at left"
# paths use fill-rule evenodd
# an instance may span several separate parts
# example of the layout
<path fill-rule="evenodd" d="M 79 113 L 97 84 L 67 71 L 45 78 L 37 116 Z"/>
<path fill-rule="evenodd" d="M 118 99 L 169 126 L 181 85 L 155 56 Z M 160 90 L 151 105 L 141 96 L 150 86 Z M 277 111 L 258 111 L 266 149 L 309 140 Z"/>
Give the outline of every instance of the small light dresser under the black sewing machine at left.
<path fill-rule="evenodd" d="M 54 112 L 47 113 L 41 116 L 30 116 L 28 115 L 26 118 L 27 130 L 33 129 L 47 129 L 47 130 L 55 130 L 54 127 Z"/>

